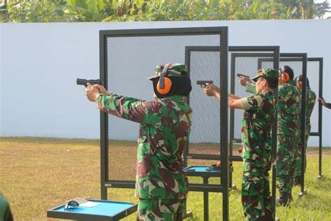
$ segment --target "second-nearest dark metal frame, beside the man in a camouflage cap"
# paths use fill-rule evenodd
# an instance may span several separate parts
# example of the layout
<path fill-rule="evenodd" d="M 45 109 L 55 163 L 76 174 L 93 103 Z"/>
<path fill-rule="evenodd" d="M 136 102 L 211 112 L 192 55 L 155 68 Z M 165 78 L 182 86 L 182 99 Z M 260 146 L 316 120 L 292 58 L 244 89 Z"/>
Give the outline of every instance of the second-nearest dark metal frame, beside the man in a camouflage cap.
<path fill-rule="evenodd" d="M 188 71 L 191 71 L 191 53 L 192 52 L 219 52 L 219 48 L 214 46 L 187 46 L 186 47 L 186 66 Z M 228 52 L 231 52 L 230 57 L 230 93 L 235 90 L 235 58 L 236 57 L 271 57 L 274 69 L 279 69 L 279 46 L 229 46 Z M 234 53 L 236 52 L 236 53 Z M 258 65 L 258 64 L 257 64 Z M 222 86 L 222 85 L 221 85 Z M 275 97 L 278 97 L 278 90 L 275 89 Z M 277 118 L 276 118 L 277 121 Z M 229 160 L 230 162 L 242 162 L 242 157 L 233 156 L 233 131 L 234 131 L 234 110 L 230 110 L 230 139 L 229 139 Z M 237 141 L 236 141 L 237 142 Z M 241 141 L 240 141 L 241 142 Z M 277 154 L 277 122 L 272 128 L 272 156 Z M 186 148 L 186 158 L 189 159 L 216 159 L 215 155 L 198 155 L 191 154 L 189 147 Z M 185 159 L 187 161 L 187 159 Z M 272 165 L 275 165 L 274 163 Z M 229 173 L 229 187 L 232 187 L 232 171 Z M 204 192 L 205 196 L 205 192 Z M 206 198 L 204 197 L 204 201 Z M 272 201 L 275 217 L 275 202 L 276 202 L 276 168 L 272 166 Z"/>

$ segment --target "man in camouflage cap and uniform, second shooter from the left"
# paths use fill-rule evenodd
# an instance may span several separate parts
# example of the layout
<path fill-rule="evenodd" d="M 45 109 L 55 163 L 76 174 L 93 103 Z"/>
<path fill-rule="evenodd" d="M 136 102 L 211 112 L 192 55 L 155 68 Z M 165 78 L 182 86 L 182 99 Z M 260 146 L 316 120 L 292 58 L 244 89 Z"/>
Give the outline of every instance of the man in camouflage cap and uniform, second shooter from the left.
<path fill-rule="evenodd" d="M 251 97 L 228 95 L 229 108 L 243 109 L 242 118 L 242 206 L 247 220 L 273 220 L 269 171 L 271 169 L 271 129 L 276 119 L 273 89 L 278 85 L 278 71 L 260 69 Z M 221 100 L 219 88 L 207 85 L 204 92 Z"/>

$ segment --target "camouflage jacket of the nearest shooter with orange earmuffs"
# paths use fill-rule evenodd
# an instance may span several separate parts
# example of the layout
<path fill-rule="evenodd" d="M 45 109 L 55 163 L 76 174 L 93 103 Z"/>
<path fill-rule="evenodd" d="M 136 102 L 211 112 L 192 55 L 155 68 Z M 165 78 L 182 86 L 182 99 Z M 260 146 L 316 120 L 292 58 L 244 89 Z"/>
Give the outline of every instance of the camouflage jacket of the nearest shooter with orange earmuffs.
<path fill-rule="evenodd" d="M 135 197 L 186 199 L 189 183 L 182 155 L 191 130 L 192 110 L 174 95 L 141 101 L 117 94 L 101 95 L 100 110 L 140 123 Z"/>

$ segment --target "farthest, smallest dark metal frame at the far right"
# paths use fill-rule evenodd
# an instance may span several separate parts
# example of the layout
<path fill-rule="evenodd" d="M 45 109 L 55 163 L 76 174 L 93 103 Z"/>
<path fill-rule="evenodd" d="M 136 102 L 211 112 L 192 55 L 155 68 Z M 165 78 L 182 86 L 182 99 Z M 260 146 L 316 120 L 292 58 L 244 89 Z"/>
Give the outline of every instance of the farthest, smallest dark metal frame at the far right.
<path fill-rule="evenodd" d="M 300 58 L 283 58 L 281 53 L 280 62 L 300 62 Z M 259 59 L 259 66 L 262 66 L 263 62 L 270 62 L 267 59 Z M 308 57 L 307 66 L 311 62 L 318 62 L 318 95 L 316 94 L 316 104 L 318 104 L 318 131 L 310 131 L 309 136 L 318 136 L 318 176 L 317 179 L 321 180 L 323 177 L 322 173 L 322 122 L 323 122 L 323 106 L 321 102 L 318 102 L 318 97 L 323 97 L 323 57 Z"/>

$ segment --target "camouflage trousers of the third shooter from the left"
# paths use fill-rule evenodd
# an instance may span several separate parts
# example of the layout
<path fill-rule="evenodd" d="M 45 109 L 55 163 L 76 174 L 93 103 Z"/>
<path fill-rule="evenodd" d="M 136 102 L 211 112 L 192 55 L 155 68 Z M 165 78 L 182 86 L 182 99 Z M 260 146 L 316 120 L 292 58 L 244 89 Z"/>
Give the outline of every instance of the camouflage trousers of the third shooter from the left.
<path fill-rule="evenodd" d="M 297 136 L 278 135 L 276 174 L 280 194 L 290 194 L 297 159 Z"/>

